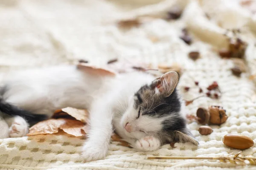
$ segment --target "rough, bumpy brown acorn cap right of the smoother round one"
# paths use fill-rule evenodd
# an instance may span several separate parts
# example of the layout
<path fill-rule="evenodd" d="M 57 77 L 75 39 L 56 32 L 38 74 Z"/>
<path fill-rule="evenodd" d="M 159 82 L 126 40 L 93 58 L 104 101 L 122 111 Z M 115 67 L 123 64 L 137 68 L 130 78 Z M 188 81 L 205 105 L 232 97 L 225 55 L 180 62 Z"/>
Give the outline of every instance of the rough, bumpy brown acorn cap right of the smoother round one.
<path fill-rule="evenodd" d="M 210 114 L 210 123 L 220 125 L 227 121 L 228 116 L 226 115 L 226 111 L 220 106 L 210 106 L 209 107 Z"/>

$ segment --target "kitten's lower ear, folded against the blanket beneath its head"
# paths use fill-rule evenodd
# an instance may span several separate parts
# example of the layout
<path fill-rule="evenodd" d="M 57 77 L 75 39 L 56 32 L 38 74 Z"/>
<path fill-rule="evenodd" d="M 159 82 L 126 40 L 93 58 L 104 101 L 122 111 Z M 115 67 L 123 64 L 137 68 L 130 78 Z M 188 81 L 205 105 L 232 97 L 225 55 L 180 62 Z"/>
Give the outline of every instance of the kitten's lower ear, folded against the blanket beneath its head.
<path fill-rule="evenodd" d="M 189 131 L 189 129 L 184 129 L 181 131 L 174 131 L 173 142 L 191 142 L 192 144 L 198 145 L 198 141 L 195 140 L 195 137 Z"/>

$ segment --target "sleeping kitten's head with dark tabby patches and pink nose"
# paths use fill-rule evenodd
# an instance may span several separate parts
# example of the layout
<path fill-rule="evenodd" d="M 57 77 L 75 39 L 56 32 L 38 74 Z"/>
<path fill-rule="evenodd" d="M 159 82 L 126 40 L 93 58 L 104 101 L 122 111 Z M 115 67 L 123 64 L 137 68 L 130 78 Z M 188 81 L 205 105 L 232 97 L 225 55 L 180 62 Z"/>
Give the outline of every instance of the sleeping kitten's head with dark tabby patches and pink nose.
<path fill-rule="evenodd" d="M 140 139 L 153 135 L 163 143 L 198 144 L 186 128 L 186 120 L 181 114 L 182 102 L 176 91 L 178 81 L 177 72 L 170 71 L 143 85 L 134 94 L 121 121 L 126 136 Z"/>

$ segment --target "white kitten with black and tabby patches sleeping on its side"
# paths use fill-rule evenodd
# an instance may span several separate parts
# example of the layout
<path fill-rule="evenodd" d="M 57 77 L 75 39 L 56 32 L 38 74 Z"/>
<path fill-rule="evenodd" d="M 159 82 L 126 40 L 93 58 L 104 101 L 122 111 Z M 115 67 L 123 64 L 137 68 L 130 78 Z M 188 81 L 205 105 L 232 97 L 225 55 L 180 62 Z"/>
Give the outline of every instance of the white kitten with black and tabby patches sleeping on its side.
<path fill-rule="evenodd" d="M 178 79 L 174 71 L 157 79 L 143 72 L 99 77 L 76 66 L 20 71 L 8 75 L 0 88 L 0 111 L 9 125 L 2 128 L 10 137 L 25 136 L 28 123 L 46 119 L 59 108 L 87 108 L 86 161 L 107 155 L 113 130 L 143 151 L 168 142 L 198 144 L 186 128 Z"/>

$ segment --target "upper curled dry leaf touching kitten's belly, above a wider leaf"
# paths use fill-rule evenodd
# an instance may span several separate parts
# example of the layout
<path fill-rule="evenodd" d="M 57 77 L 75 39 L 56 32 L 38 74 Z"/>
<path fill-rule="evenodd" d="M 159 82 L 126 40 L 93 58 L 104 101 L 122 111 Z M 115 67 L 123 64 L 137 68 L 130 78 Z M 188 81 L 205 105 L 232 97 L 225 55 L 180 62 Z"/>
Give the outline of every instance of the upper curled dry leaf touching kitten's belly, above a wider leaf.
<path fill-rule="evenodd" d="M 86 109 L 76 109 L 67 107 L 56 110 L 52 118 L 60 118 L 67 115 L 74 117 L 76 120 L 80 120 L 81 122 L 87 123 L 89 113 Z"/>

